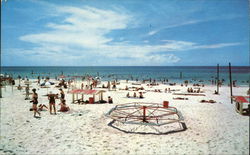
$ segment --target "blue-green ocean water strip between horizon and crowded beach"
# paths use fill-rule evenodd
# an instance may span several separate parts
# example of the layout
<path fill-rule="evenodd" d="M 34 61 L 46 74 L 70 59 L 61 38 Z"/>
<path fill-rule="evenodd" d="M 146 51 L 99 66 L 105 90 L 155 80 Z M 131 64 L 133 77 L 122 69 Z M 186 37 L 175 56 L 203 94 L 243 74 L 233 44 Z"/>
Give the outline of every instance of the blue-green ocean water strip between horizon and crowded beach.
<path fill-rule="evenodd" d="M 228 66 L 221 66 L 219 69 L 219 79 L 224 79 L 226 83 L 229 83 Z M 217 77 L 217 68 L 216 66 L 1 67 L 1 74 L 9 74 L 14 78 L 17 78 L 18 75 L 29 79 L 36 79 L 38 76 L 55 78 L 62 73 L 65 76 L 99 76 L 102 80 L 146 80 L 151 78 L 159 81 L 165 78 L 169 82 L 177 83 L 184 80 L 203 80 L 204 83 L 211 83 L 210 80 L 215 80 Z M 232 66 L 232 78 L 237 80 L 237 84 L 248 85 L 249 73 L 249 66 Z"/>

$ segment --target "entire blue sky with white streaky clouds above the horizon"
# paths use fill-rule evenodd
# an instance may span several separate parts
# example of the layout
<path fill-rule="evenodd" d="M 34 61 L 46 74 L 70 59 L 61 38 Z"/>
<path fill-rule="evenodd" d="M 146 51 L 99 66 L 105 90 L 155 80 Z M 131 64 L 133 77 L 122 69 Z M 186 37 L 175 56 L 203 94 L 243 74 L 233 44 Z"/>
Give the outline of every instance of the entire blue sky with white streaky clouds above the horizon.
<path fill-rule="evenodd" d="M 3 0 L 2 66 L 249 65 L 248 0 Z"/>

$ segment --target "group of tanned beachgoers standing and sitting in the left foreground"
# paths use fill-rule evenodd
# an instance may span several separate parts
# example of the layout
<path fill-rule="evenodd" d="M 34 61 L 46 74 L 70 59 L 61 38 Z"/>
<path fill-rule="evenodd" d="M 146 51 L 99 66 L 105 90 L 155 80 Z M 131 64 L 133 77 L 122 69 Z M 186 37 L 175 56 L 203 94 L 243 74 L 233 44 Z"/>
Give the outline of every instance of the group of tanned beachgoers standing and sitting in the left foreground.
<path fill-rule="evenodd" d="M 60 101 L 61 103 L 59 104 L 60 107 L 60 112 L 67 112 L 69 111 L 69 107 L 66 105 L 66 100 L 65 100 L 65 93 L 62 89 L 60 90 Z M 32 95 L 32 100 L 30 102 L 33 103 L 32 105 L 32 110 L 34 111 L 34 117 L 37 117 L 36 114 L 38 114 L 39 116 L 41 115 L 41 113 L 39 111 L 43 111 L 44 108 L 46 108 L 47 110 L 49 109 L 50 114 L 52 114 L 52 109 L 54 111 L 54 114 L 56 114 L 56 99 L 58 99 L 58 94 L 52 94 L 52 92 L 50 94 L 48 94 L 48 100 L 49 100 L 49 108 L 44 105 L 44 104 L 39 104 L 38 105 L 38 94 L 36 93 L 36 89 L 32 89 L 33 95 Z"/>

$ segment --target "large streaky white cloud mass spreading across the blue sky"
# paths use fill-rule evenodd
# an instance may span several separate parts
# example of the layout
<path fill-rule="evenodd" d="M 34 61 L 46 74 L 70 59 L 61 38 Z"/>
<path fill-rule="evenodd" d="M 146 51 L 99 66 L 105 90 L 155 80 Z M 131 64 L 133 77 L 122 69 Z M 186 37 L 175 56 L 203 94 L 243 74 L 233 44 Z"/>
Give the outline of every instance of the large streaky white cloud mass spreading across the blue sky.
<path fill-rule="evenodd" d="M 237 43 L 198 45 L 177 40 L 163 40 L 163 43 L 158 45 L 132 45 L 130 41 L 123 41 L 123 37 L 118 39 L 120 42 L 114 43 L 113 38 L 107 37 L 107 34 L 113 30 L 128 28 L 135 20 L 133 16 L 92 7 L 57 7 L 55 10 L 58 16 L 64 17 L 64 20 L 61 23 L 48 23 L 46 26 L 51 29 L 50 31 L 21 36 L 20 40 L 37 45 L 30 50 L 22 50 L 23 54 L 32 55 L 31 57 L 34 59 L 40 57 L 46 61 L 52 61 L 55 65 L 62 65 L 61 62 L 64 65 L 106 64 L 102 60 L 90 60 L 98 58 L 108 60 L 109 65 L 161 65 L 176 63 L 180 61 L 180 58 L 173 54 L 157 54 L 156 52 L 238 45 Z M 155 33 L 157 30 L 151 31 L 149 35 Z M 148 43 L 148 41 L 144 41 L 144 43 Z M 35 56 L 34 53 L 38 56 Z M 124 57 L 133 60 L 125 60 Z"/>

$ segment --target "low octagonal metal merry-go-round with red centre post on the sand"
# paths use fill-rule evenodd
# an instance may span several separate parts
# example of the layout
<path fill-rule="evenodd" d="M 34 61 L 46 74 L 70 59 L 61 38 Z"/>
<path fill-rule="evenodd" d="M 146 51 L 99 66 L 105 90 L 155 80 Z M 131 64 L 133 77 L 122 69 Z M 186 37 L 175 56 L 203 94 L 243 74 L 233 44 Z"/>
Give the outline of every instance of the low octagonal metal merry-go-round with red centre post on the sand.
<path fill-rule="evenodd" d="M 180 111 L 175 107 L 158 103 L 133 102 L 120 104 L 112 108 L 106 116 L 113 119 L 109 123 L 109 126 L 126 133 L 147 133 L 144 131 L 137 132 L 137 129 L 141 126 L 154 129 L 157 132 L 150 133 L 155 134 L 167 134 L 187 129 Z M 166 131 L 166 126 L 173 123 L 179 124 L 179 128 L 177 130 Z M 137 125 L 137 127 L 134 129 L 122 129 L 121 126 L 123 125 Z M 163 131 L 160 131 L 159 128 L 163 126 Z"/>

